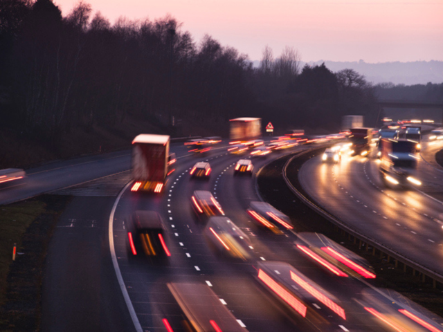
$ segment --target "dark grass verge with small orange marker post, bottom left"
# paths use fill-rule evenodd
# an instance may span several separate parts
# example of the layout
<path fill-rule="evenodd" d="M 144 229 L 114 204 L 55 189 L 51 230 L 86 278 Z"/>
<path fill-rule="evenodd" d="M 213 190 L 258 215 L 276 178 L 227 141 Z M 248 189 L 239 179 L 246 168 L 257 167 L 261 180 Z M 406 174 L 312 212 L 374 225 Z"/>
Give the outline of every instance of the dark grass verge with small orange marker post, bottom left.
<path fill-rule="evenodd" d="M 38 330 L 46 249 L 69 200 L 42 195 L 0 207 L 0 331 Z"/>

